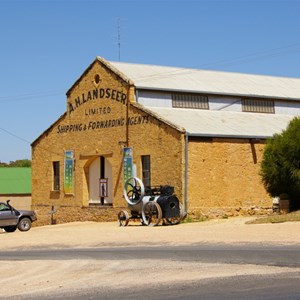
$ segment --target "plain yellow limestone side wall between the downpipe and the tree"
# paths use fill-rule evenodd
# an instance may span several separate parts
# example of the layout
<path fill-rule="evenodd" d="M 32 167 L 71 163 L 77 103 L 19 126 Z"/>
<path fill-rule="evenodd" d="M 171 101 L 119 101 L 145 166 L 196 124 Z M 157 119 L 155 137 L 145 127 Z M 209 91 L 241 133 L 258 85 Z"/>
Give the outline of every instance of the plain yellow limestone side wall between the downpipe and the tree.
<path fill-rule="evenodd" d="M 259 176 L 264 143 L 211 139 L 189 143 L 189 209 L 204 214 L 251 214 L 272 199 Z"/>

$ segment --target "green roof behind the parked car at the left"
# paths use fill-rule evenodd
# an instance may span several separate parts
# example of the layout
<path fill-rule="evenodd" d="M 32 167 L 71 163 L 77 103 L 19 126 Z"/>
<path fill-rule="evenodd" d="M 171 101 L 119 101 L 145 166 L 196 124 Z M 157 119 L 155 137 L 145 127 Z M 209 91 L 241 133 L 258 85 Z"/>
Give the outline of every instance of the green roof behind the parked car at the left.
<path fill-rule="evenodd" d="M 31 168 L 0 167 L 0 194 L 31 194 Z"/>

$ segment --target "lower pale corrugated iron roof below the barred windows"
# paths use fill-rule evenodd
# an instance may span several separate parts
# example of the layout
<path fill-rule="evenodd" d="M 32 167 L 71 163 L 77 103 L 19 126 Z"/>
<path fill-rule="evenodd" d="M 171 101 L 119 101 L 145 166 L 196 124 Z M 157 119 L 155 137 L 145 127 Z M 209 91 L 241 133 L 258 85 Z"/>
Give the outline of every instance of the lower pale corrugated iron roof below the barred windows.
<path fill-rule="evenodd" d="M 269 138 L 281 133 L 294 118 L 290 115 L 148 107 L 189 135 L 207 137 Z"/>

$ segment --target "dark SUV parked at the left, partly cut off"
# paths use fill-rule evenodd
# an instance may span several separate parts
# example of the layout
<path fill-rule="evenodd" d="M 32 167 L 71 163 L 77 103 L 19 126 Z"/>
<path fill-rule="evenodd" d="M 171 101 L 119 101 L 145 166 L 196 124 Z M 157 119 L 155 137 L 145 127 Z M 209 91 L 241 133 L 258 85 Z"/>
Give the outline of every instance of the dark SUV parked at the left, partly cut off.
<path fill-rule="evenodd" d="M 16 210 L 9 204 L 0 202 L 0 228 L 6 232 L 14 232 L 17 228 L 20 231 L 28 231 L 32 222 L 37 220 L 32 210 Z"/>

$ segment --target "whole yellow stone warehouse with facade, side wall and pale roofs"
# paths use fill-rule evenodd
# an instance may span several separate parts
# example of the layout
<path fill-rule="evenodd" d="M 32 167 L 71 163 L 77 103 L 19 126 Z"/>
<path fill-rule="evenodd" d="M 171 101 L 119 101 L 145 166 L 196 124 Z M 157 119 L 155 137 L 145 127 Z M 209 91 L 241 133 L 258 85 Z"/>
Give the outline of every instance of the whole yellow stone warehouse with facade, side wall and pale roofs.
<path fill-rule="evenodd" d="M 190 214 L 270 209 L 264 145 L 299 113 L 300 79 L 97 57 L 32 143 L 33 208 L 41 220 L 53 208 L 58 222 L 116 219 L 131 173 L 174 186 Z"/>

